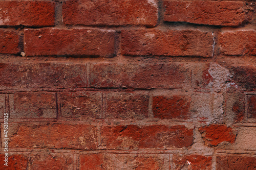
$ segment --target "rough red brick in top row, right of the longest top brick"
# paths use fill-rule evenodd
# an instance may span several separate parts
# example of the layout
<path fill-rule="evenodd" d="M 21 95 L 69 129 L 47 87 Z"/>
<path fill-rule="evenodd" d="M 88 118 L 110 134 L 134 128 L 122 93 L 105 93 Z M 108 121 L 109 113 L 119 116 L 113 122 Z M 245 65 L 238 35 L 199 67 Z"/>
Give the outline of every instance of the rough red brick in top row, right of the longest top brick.
<path fill-rule="evenodd" d="M 215 26 L 239 26 L 247 20 L 243 2 L 164 1 L 164 20 Z"/>

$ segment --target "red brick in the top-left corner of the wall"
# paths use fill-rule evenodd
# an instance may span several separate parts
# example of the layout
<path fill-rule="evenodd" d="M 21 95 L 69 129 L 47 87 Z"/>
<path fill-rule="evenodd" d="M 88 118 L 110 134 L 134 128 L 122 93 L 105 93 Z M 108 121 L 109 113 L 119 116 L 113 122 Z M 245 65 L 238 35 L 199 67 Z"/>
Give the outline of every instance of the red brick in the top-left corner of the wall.
<path fill-rule="evenodd" d="M 54 26 L 55 3 L 1 1 L 0 26 Z"/>

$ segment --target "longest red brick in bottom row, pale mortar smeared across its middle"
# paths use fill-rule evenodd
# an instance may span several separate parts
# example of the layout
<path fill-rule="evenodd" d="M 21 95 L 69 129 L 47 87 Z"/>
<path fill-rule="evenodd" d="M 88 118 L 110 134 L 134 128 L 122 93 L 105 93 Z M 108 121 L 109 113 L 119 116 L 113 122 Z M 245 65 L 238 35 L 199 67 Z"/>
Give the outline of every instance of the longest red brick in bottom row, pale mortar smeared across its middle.
<path fill-rule="evenodd" d="M 82 154 L 79 156 L 80 169 L 169 169 L 167 154 Z"/>

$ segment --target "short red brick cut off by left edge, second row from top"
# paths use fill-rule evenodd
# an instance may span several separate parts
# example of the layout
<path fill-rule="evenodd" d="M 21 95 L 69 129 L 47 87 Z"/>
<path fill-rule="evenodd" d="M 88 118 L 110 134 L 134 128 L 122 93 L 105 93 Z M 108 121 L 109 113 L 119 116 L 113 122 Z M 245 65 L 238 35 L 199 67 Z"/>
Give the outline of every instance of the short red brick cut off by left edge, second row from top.
<path fill-rule="evenodd" d="M 20 51 L 17 31 L 0 29 L 0 40 L 0 54 L 17 54 Z"/>

